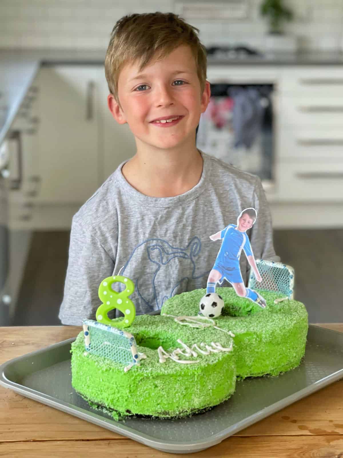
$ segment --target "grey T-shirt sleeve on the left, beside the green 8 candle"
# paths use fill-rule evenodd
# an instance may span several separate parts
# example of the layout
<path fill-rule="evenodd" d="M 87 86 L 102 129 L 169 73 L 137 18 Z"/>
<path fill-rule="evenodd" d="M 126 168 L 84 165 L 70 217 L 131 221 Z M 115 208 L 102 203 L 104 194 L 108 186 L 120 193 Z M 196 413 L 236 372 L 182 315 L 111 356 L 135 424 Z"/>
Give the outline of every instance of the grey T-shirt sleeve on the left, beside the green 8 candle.
<path fill-rule="evenodd" d="M 80 326 L 86 318 L 95 319 L 101 305 L 98 287 L 113 274 L 114 260 L 89 228 L 73 219 L 64 297 L 59 310 L 62 324 Z"/>

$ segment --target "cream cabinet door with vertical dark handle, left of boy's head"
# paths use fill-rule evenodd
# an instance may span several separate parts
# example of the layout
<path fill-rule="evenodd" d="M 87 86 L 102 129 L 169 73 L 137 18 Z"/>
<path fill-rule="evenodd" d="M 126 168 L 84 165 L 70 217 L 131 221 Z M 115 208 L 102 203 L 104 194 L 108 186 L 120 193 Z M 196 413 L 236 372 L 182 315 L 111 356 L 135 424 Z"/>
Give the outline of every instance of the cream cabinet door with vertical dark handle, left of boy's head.
<path fill-rule="evenodd" d="M 39 204 L 82 204 L 100 185 L 98 81 L 94 65 L 39 72 Z"/>

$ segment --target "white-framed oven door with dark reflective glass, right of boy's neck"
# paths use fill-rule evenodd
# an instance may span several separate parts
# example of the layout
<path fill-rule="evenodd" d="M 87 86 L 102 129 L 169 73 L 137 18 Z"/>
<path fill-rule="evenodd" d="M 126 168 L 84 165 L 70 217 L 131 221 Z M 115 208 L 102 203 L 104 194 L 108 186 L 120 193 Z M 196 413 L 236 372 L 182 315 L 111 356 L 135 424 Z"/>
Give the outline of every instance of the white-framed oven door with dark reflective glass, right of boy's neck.
<path fill-rule="evenodd" d="M 211 98 L 201 114 L 197 147 L 275 186 L 278 72 L 241 65 L 209 65 Z"/>

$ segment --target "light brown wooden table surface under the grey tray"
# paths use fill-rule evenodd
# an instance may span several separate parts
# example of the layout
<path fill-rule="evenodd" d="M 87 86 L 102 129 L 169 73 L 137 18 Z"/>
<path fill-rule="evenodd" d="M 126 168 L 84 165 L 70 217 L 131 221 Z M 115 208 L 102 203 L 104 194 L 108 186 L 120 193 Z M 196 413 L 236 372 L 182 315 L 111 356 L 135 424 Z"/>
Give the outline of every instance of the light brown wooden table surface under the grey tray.
<path fill-rule="evenodd" d="M 343 332 L 342 324 L 323 324 Z M 80 327 L 1 327 L 0 364 L 75 337 Z M 0 457 L 180 457 L 0 386 Z M 188 457 L 343 457 L 343 379 Z"/>

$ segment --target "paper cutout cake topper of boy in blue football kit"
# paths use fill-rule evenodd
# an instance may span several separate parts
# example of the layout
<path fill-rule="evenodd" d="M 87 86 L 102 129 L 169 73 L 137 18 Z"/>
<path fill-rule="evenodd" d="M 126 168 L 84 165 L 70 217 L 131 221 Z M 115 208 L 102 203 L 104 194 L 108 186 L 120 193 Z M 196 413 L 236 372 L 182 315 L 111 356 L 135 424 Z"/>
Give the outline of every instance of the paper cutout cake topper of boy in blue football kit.
<path fill-rule="evenodd" d="M 246 208 L 238 216 L 237 224 L 229 224 L 225 229 L 209 236 L 213 241 L 222 240 L 222 242 L 214 266 L 209 273 L 206 296 L 215 293 L 216 284 L 222 284 L 226 280 L 232 284 L 238 296 L 247 297 L 247 299 L 255 302 L 260 307 L 265 308 L 265 299 L 257 291 L 246 288 L 244 285 L 239 265 L 241 251 L 243 250 L 257 281 L 262 281 L 252 253 L 249 237 L 246 234 L 246 231 L 252 228 L 256 218 L 257 212 L 255 208 Z"/>

